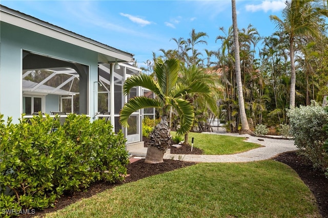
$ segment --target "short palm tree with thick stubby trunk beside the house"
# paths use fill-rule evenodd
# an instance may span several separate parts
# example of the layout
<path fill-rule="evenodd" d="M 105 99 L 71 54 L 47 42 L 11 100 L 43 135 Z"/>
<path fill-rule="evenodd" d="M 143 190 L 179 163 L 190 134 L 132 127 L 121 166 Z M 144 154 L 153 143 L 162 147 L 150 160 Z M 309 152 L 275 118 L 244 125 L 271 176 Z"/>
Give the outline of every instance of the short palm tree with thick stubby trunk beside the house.
<path fill-rule="evenodd" d="M 177 59 L 165 61 L 157 59 L 154 67 L 155 77 L 151 78 L 146 74 L 133 75 L 123 85 L 125 95 L 134 86 L 142 86 L 156 95 L 154 99 L 145 96 L 132 98 L 120 111 L 119 121 L 122 126 L 128 126 L 129 116 L 141 108 L 155 107 L 159 112 L 161 121 L 150 134 L 151 145 L 147 150 L 146 163 L 163 162 L 164 153 L 171 145 L 172 136 L 167 120 L 170 107 L 176 110 L 180 118 L 180 128 L 177 129 L 177 133 L 183 135 L 192 127 L 195 116 L 192 104 L 185 100 L 184 96 L 192 92 L 210 92 L 207 86 L 202 86 L 200 83 L 194 83 L 191 87 L 177 82 L 179 70 L 180 63 Z"/>

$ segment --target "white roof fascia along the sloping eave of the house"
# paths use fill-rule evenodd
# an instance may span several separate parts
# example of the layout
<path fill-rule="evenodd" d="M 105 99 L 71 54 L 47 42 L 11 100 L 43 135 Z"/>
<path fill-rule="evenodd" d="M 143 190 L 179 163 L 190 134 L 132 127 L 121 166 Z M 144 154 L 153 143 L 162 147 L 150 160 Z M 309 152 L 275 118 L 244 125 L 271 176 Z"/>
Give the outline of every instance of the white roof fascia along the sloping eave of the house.
<path fill-rule="evenodd" d="M 71 43 L 72 45 L 120 59 L 122 61 L 133 61 L 133 54 L 116 50 L 90 38 L 67 31 L 63 28 L 54 26 L 45 21 L 20 13 L 18 11 L 4 8 L 3 6 L 1 6 L 0 10 L 0 20 L 20 28 L 24 28 L 36 33 L 40 33 L 42 35 L 49 36 L 51 38 Z"/>

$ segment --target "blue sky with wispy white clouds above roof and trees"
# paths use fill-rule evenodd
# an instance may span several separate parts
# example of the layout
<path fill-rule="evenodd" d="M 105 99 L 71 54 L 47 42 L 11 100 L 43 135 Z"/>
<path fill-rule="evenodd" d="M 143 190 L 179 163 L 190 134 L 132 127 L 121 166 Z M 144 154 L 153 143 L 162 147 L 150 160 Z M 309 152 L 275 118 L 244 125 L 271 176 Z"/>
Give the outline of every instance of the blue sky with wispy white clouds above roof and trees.
<path fill-rule="evenodd" d="M 281 17 L 285 0 L 237 0 L 238 29 L 250 24 L 260 36 L 276 31 L 270 15 Z M 217 51 L 217 36 L 232 26 L 230 0 L 212 1 L 6 1 L 0 4 L 50 24 L 134 54 L 138 67 L 146 67 L 152 53 L 176 49 L 172 38 L 190 38 L 192 29 L 205 32 L 208 45 L 198 51 Z M 261 47 L 261 45 L 259 45 Z M 203 56 L 206 58 L 206 56 Z"/>

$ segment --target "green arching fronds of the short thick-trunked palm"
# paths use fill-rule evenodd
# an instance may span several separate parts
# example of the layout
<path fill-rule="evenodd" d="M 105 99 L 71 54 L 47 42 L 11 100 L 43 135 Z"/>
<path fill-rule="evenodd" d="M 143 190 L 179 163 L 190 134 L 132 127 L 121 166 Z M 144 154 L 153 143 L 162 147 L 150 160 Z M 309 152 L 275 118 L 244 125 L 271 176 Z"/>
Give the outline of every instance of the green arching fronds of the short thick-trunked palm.
<path fill-rule="evenodd" d="M 122 126 L 128 126 L 129 116 L 141 108 L 154 107 L 161 117 L 169 117 L 170 108 L 173 107 L 180 118 L 178 132 L 183 134 L 190 130 L 194 121 L 194 110 L 190 102 L 182 97 L 197 91 L 197 88 L 203 92 L 208 90 L 196 86 L 198 84 L 190 88 L 177 82 L 179 64 L 179 61 L 174 58 L 165 61 L 158 58 L 154 68 L 156 79 L 146 74 L 136 74 L 125 81 L 123 85 L 124 95 L 127 95 L 134 86 L 141 86 L 152 91 L 156 98 L 138 96 L 130 99 L 120 111 L 119 121 Z"/>

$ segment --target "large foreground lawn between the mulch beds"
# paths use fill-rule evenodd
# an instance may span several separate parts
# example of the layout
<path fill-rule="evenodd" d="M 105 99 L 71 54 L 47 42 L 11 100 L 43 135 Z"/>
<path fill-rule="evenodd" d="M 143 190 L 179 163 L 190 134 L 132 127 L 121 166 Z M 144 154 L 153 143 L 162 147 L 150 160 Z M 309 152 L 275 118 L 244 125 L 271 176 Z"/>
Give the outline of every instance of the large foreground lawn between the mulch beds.
<path fill-rule="evenodd" d="M 320 217 L 313 194 L 273 160 L 199 163 L 116 186 L 46 217 Z"/>

